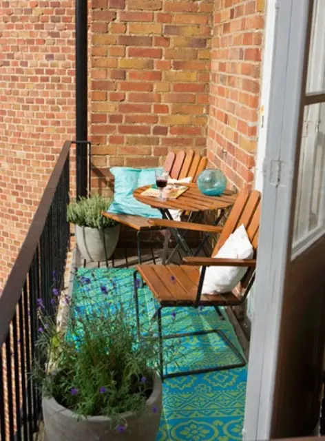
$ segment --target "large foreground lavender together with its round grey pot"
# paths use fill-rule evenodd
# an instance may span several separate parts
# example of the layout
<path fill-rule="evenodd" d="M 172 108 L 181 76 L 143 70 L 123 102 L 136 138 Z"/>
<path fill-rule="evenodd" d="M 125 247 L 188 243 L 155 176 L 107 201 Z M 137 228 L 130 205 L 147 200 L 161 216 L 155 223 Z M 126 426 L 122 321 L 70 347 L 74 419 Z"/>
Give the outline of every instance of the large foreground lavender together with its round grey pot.
<path fill-rule="evenodd" d="M 47 439 L 155 441 L 162 408 L 156 337 L 150 331 L 139 342 L 134 302 L 123 303 L 116 280 L 97 285 L 101 294 L 92 290 L 96 280 L 81 276 L 78 283 L 78 305 L 66 300 L 65 333 L 37 300 L 34 378 L 41 385 Z"/>

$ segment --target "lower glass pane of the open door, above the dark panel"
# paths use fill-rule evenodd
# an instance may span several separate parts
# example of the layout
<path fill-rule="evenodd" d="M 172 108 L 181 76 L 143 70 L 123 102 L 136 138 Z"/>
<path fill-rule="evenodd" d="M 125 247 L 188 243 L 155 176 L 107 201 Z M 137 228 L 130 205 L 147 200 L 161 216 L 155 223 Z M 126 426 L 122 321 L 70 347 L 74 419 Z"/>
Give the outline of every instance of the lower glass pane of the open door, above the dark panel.
<path fill-rule="evenodd" d="M 311 244 L 322 232 L 325 232 L 325 103 L 304 109 L 293 247 Z"/>

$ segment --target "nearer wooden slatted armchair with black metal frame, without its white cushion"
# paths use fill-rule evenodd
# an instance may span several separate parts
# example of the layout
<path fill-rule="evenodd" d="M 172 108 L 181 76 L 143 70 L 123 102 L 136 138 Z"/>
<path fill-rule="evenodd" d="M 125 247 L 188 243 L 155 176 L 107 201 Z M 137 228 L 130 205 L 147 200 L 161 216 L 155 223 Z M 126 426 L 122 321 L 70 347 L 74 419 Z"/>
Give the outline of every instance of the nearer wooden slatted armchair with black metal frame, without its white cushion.
<path fill-rule="evenodd" d="M 238 306 L 247 298 L 249 290 L 253 285 L 255 279 L 255 264 L 256 264 L 256 252 L 258 249 L 258 229 L 260 226 L 260 192 L 243 189 L 231 209 L 231 213 L 227 218 L 224 227 L 211 227 L 209 226 L 209 232 L 213 229 L 213 232 L 220 233 L 218 243 L 213 249 L 212 256 L 215 256 L 220 247 L 227 240 L 229 235 L 235 231 L 237 227 L 244 224 L 247 229 L 247 234 L 253 245 L 255 255 L 250 260 L 238 260 L 238 259 L 225 259 L 225 258 L 200 258 L 200 257 L 187 257 L 183 259 L 184 265 L 138 265 L 134 273 L 134 294 L 136 301 L 136 314 L 137 314 L 137 327 L 138 336 L 140 338 L 140 320 L 139 320 L 139 307 L 138 307 L 138 291 L 137 291 L 137 272 L 142 277 L 143 281 L 147 283 L 147 286 L 151 289 L 155 298 L 160 303 L 154 318 L 158 319 L 158 334 L 160 344 L 160 375 L 161 378 L 168 378 L 173 376 L 189 375 L 191 373 L 201 373 L 209 371 L 217 371 L 222 369 L 233 369 L 234 367 L 241 367 L 246 364 L 246 361 L 242 357 L 241 353 L 234 347 L 229 341 L 229 338 L 219 329 L 211 329 L 210 331 L 197 331 L 190 334 L 180 335 L 202 335 L 209 334 L 210 332 L 216 332 L 220 338 L 226 342 L 233 350 L 238 359 L 240 360 L 235 365 L 218 366 L 207 369 L 198 369 L 194 371 L 163 373 L 163 356 L 162 356 L 162 339 L 164 338 L 176 338 L 177 336 L 164 336 L 162 337 L 162 320 L 161 311 L 166 307 L 196 307 L 199 306 L 213 306 L 216 308 L 218 314 L 222 316 L 219 307 L 225 306 Z M 157 219 L 154 222 L 159 224 Z M 177 225 L 172 220 L 163 220 L 165 227 L 181 227 L 195 229 L 203 227 L 198 224 L 182 224 Z M 244 278 L 238 284 L 233 291 L 227 294 L 216 294 L 207 296 L 202 294 L 202 285 L 205 278 L 205 271 L 209 266 L 235 266 L 235 267 L 248 267 Z M 200 267 L 202 270 L 200 271 Z"/>

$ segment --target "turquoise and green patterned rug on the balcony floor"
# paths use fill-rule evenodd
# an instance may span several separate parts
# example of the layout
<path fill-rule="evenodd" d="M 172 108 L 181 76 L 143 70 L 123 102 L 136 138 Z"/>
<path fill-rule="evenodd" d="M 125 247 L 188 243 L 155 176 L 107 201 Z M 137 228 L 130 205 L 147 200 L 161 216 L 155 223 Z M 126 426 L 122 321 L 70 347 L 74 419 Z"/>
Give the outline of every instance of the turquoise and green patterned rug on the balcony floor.
<path fill-rule="evenodd" d="M 133 274 L 133 269 L 79 268 L 78 278 L 74 278 L 74 305 L 89 307 L 83 301 L 85 285 L 92 293 L 91 307 L 107 302 L 107 290 L 114 287 L 135 324 Z M 147 286 L 138 289 L 138 296 L 141 331 L 145 334 L 158 304 Z M 163 334 L 204 329 L 224 331 L 240 349 L 226 314 L 222 320 L 212 307 L 162 309 Z M 173 362 L 165 367 L 165 373 L 238 362 L 218 334 L 164 340 L 164 353 L 170 348 L 174 350 Z M 247 367 L 166 379 L 157 441 L 242 440 L 246 382 Z"/>

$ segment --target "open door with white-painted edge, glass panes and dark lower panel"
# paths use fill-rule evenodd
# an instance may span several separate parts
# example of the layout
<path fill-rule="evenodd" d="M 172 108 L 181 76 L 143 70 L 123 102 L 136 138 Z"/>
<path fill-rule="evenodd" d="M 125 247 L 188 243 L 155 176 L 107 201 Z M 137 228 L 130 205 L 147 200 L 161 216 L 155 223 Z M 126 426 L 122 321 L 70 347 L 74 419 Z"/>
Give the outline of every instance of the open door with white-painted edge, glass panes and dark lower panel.
<path fill-rule="evenodd" d="M 279 0 L 244 440 L 311 434 L 325 297 L 324 0 Z"/>

